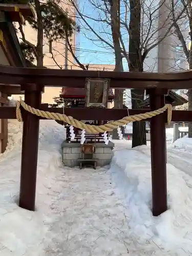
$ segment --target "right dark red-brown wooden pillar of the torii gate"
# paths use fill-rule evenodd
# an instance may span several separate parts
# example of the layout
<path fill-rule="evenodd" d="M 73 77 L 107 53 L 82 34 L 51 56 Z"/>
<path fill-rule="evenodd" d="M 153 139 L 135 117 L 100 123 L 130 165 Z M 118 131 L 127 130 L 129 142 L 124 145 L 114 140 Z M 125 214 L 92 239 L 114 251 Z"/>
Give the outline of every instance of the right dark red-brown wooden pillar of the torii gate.
<path fill-rule="evenodd" d="M 164 106 L 167 93 L 167 90 L 147 90 L 152 111 Z M 165 115 L 157 115 L 150 121 L 153 215 L 159 216 L 167 210 Z"/>

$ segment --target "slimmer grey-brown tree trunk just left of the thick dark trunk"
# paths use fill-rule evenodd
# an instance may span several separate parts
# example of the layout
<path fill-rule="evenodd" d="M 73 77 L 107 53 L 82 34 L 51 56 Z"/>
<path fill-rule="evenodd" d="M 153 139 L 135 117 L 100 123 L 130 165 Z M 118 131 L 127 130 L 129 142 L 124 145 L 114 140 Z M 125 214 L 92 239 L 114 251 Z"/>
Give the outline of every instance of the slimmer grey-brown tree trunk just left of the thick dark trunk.
<path fill-rule="evenodd" d="M 111 0 L 110 2 L 110 13 L 111 13 L 111 31 L 113 37 L 113 45 L 115 51 L 115 70 L 118 72 L 123 71 L 121 44 L 120 44 L 120 1 Z M 123 91 L 115 89 L 114 108 L 123 108 Z M 113 130 L 113 139 L 119 139 L 117 129 Z"/>

